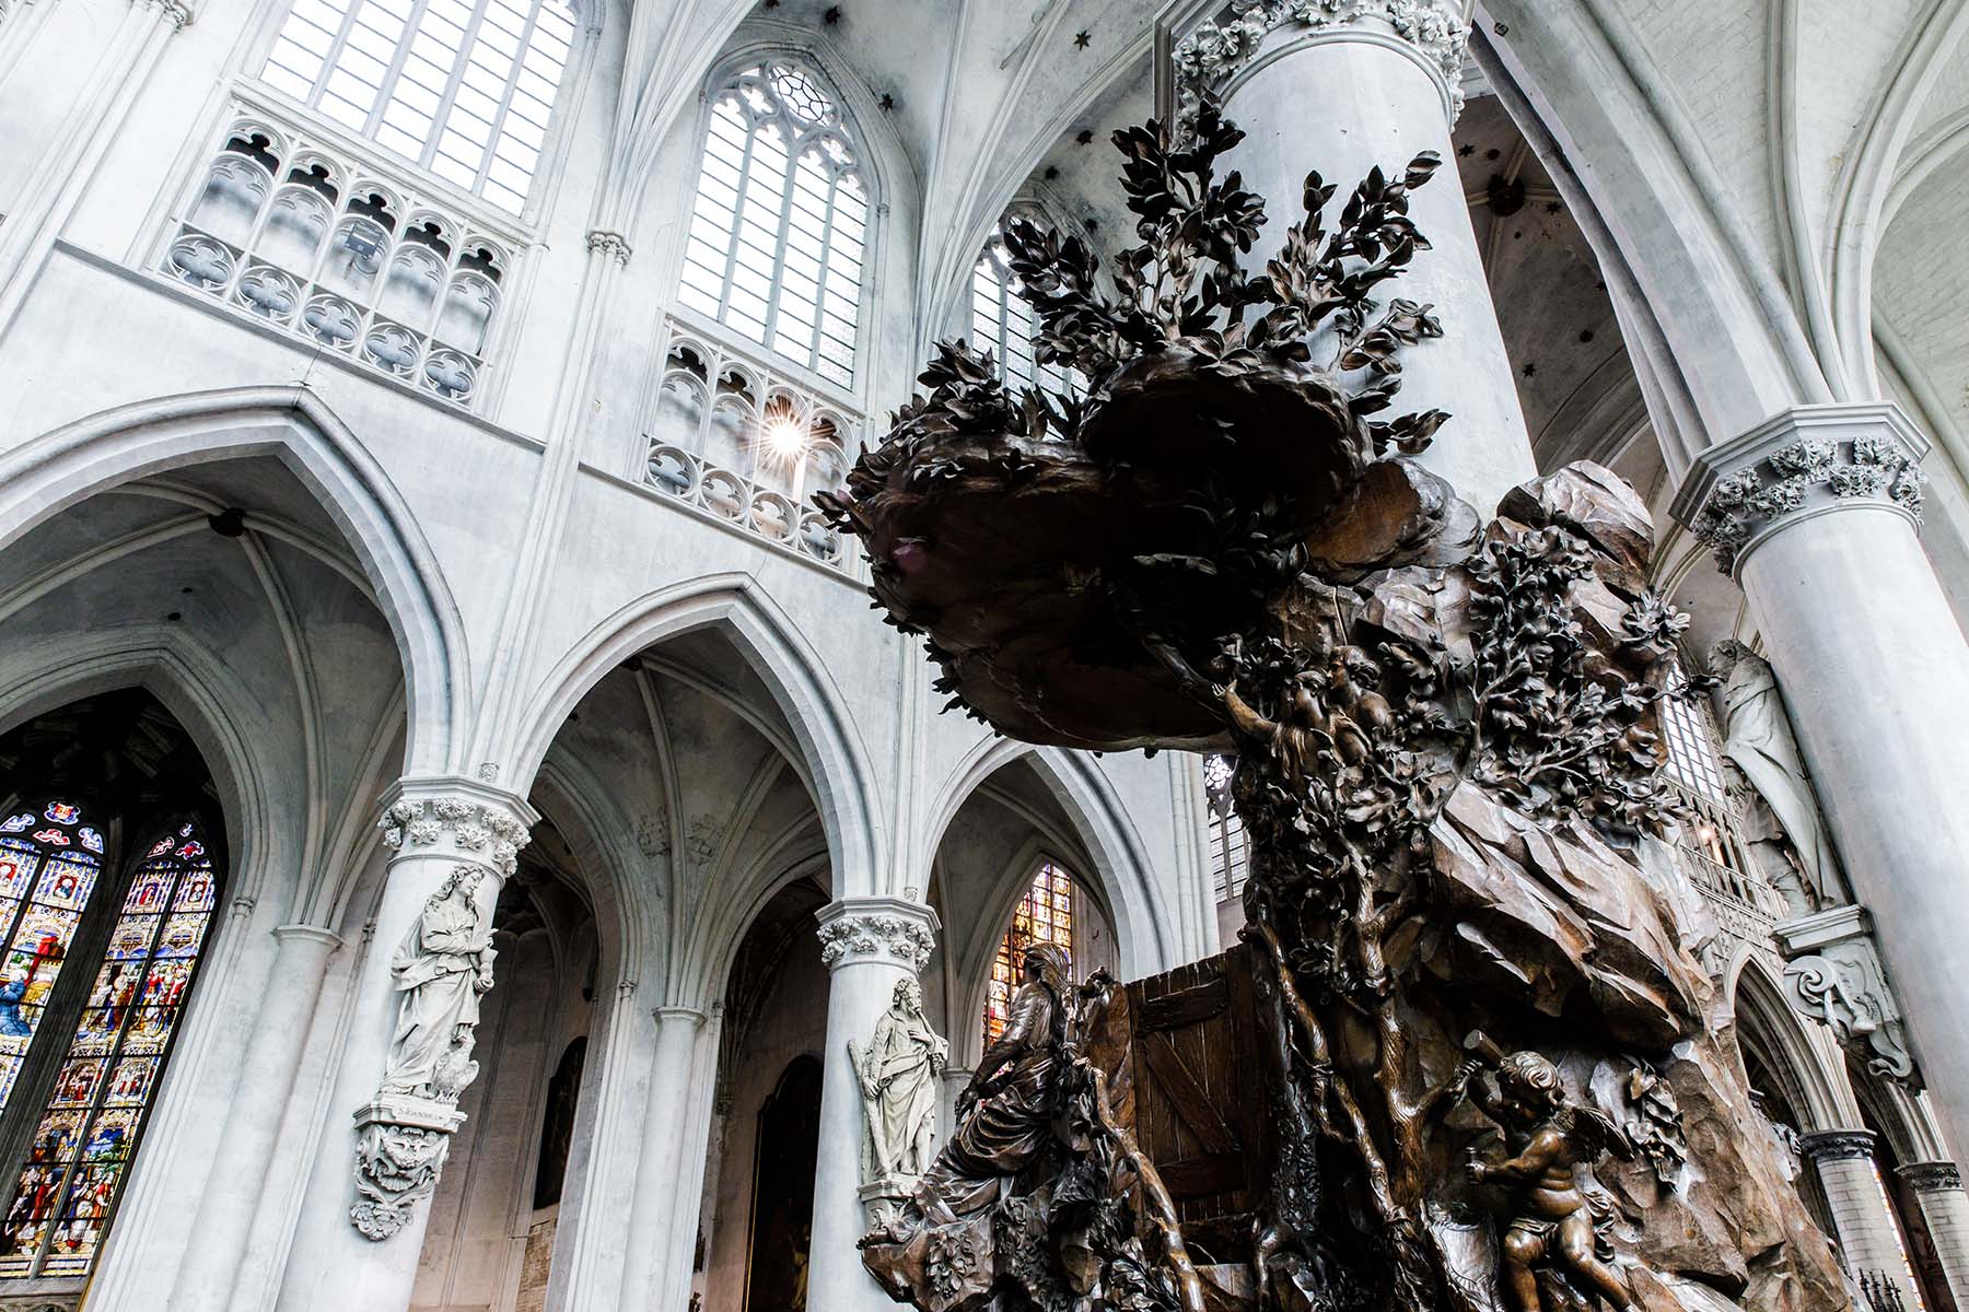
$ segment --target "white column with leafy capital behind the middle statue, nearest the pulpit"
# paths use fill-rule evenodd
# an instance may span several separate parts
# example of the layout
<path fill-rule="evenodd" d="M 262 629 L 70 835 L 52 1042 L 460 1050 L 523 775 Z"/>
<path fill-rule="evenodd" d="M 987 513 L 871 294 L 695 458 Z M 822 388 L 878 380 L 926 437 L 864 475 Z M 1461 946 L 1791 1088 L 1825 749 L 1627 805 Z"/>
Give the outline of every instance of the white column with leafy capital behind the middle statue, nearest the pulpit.
<path fill-rule="evenodd" d="M 882 1286 L 860 1265 L 866 1141 L 860 1078 L 849 1043 L 868 1043 L 898 980 L 916 978 L 937 944 L 937 913 L 898 897 L 851 897 L 819 913 L 827 964 L 827 1048 L 821 1052 L 821 1153 L 813 1164 L 813 1239 L 807 1306 L 888 1312 Z"/>

